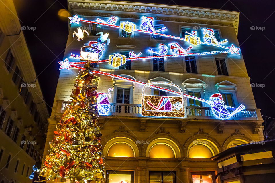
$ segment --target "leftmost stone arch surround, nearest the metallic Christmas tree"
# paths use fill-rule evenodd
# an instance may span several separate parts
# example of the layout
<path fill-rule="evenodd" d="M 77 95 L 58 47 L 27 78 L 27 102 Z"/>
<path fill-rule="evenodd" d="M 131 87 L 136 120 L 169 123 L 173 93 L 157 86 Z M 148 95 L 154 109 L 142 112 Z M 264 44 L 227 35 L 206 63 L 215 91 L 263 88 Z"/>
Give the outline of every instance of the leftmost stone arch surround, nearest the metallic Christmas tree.
<path fill-rule="evenodd" d="M 136 144 L 136 141 L 138 141 L 138 139 L 135 136 L 133 136 L 127 132 L 112 133 L 112 134 L 106 136 L 101 141 L 101 145 L 103 146 L 103 154 L 107 155 L 109 149 L 114 144 L 125 143 L 133 149 L 134 157 L 139 157 L 142 147 L 140 144 Z"/>

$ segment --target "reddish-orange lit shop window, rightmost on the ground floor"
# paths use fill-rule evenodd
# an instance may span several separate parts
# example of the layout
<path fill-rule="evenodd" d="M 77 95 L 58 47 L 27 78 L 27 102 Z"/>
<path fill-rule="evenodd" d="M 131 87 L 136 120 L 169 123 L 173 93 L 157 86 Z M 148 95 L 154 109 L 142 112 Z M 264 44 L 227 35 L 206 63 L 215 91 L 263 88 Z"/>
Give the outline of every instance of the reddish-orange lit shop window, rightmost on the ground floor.
<path fill-rule="evenodd" d="M 214 183 L 215 172 L 190 172 L 192 175 L 192 183 Z"/>

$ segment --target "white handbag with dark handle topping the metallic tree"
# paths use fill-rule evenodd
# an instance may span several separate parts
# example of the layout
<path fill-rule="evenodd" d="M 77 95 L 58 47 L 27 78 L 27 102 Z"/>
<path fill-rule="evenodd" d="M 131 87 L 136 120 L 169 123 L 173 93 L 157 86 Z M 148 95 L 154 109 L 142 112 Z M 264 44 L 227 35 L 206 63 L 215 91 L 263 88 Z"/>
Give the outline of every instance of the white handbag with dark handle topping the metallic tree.
<path fill-rule="evenodd" d="M 97 62 L 99 55 L 99 49 L 93 46 L 83 46 L 80 49 L 80 57 L 81 61 L 91 61 Z"/>

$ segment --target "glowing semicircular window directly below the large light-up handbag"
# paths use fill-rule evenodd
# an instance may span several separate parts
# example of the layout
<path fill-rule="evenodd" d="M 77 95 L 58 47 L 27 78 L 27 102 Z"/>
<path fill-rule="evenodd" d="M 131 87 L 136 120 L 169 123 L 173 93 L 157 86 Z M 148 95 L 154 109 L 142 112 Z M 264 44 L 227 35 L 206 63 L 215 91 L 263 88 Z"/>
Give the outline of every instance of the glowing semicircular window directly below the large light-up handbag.
<path fill-rule="evenodd" d="M 157 144 L 150 149 L 150 158 L 175 158 L 173 150 L 165 144 Z"/>

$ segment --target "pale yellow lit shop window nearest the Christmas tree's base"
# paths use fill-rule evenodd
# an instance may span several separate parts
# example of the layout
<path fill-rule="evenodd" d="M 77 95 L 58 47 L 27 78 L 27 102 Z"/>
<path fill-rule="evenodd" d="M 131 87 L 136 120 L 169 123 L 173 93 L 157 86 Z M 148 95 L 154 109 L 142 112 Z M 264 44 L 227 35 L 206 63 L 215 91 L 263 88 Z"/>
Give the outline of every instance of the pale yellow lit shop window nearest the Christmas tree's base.
<path fill-rule="evenodd" d="M 134 183 L 134 171 L 106 170 L 106 183 Z"/>

